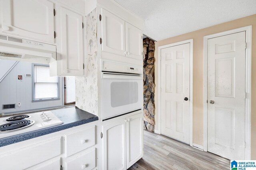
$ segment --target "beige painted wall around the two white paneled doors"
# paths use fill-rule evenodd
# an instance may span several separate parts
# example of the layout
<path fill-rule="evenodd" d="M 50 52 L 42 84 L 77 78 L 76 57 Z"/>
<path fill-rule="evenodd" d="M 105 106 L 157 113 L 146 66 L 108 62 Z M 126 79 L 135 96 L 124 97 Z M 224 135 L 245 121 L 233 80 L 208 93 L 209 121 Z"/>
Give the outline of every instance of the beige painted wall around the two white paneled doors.
<path fill-rule="evenodd" d="M 204 36 L 252 25 L 252 96 L 256 96 L 256 14 L 238 20 L 229 21 L 212 27 L 200 29 L 176 37 L 156 42 L 156 123 L 158 123 L 158 47 L 188 39 L 194 39 L 193 63 L 193 143 L 203 146 L 203 43 Z M 172 29 L 170 29 L 172 31 Z M 156 124 L 158 130 L 158 124 Z M 251 129 L 251 158 L 256 159 L 256 99 L 252 97 L 252 129 Z"/>

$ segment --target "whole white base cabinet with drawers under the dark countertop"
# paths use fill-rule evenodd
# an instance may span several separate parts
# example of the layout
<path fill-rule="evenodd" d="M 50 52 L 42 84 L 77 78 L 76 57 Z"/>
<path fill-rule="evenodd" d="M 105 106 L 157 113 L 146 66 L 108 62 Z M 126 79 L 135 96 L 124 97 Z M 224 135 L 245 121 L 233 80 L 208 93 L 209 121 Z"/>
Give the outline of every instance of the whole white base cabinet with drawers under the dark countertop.
<path fill-rule="evenodd" d="M 97 168 L 96 125 L 92 122 L 0 147 L 0 170 Z"/>

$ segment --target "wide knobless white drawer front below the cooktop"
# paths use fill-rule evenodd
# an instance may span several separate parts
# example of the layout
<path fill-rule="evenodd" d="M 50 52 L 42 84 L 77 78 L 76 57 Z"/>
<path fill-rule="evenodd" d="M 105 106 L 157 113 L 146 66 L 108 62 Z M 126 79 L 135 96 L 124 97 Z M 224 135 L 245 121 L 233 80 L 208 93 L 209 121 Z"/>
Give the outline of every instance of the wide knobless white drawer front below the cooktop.
<path fill-rule="evenodd" d="M 61 154 L 61 137 L 0 156 L 0 169 L 23 170 Z"/>

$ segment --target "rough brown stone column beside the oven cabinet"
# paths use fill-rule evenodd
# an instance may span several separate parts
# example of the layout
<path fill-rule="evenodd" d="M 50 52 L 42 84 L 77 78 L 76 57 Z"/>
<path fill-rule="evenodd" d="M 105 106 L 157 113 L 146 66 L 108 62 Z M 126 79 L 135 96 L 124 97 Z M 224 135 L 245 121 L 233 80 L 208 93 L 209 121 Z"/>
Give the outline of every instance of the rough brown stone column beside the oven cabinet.
<path fill-rule="evenodd" d="M 154 132 L 155 125 L 155 42 L 152 39 L 143 39 L 144 59 L 144 129 Z"/>

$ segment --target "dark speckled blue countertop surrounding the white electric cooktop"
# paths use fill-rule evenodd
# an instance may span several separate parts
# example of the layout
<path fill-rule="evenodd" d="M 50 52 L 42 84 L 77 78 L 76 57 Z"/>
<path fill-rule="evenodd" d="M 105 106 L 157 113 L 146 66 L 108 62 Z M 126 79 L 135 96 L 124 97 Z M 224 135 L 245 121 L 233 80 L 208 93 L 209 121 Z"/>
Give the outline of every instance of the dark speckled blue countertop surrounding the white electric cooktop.
<path fill-rule="evenodd" d="M 62 131 L 71 127 L 83 125 L 98 120 L 98 116 L 83 111 L 81 109 L 76 109 L 75 107 L 68 107 L 63 109 L 51 110 L 63 123 L 61 125 L 56 125 L 52 127 L 46 127 L 44 129 L 38 129 L 35 131 L 30 131 L 26 133 L 21 133 L 18 135 L 13 135 L 10 137 L 4 137 L 0 139 L 0 147 L 6 145 L 18 143 L 21 141 L 26 141 L 28 139 L 40 137 L 50 133 Z"/>

